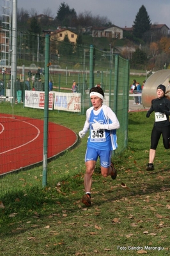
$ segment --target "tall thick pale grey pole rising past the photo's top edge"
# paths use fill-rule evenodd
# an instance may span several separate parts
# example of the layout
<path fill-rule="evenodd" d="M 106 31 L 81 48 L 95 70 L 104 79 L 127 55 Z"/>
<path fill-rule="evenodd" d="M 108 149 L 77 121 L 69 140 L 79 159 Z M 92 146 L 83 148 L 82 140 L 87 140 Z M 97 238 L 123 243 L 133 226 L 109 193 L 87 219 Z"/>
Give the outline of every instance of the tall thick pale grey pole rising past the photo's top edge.
<path fill-rule="evenodd" d="M 11 85 L 13 96 L 12 103 L 15 103 L 15 81 L 17 79 L 17 0 L 13 0 L 12 12 L 12 69 L 11 69 Z"/>

